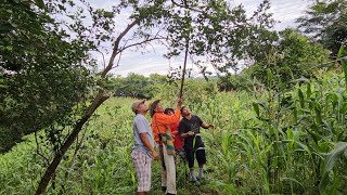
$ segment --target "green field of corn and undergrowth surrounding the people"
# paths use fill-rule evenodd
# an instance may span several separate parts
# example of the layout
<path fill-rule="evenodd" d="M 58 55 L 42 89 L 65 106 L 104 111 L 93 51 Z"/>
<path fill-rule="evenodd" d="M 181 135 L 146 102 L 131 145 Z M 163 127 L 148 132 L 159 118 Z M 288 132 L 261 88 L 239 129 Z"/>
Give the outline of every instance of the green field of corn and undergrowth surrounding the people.
<path fill-rule="evenodd" d="M 196 99 L 184 104 L 216 129 L 202 130 L 207 147 L 205 180 L 195 186 L 187 179 L 187 166 L 178 164 L 178 194 L 346 191 L 347 96 L 343 75 L 322 74 L 320 79 L 287 91 L 192 95 Z M 129 157 L 132 102 L 113 98 L 98 109 L 59 166 L 47 194 L 133 194 L 136 172 Z M 175 106 L 169 98 L 163 102 Z M 37 154 L 35 136 L 25 140 L 0 156 L 0 194 L 34 194 L 38 185 L 47 161 Z M 49 150 L 41 151 L 50 156 Z M 159 161 L 153 164 L 151 194 L 163 194 L 159 166 Z"/>

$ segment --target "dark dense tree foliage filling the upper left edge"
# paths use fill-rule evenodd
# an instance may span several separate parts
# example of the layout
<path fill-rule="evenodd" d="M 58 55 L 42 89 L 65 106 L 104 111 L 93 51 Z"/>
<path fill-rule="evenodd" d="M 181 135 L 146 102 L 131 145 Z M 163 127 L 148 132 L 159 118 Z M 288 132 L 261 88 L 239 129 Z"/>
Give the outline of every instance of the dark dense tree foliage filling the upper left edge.
<path fill-rule="evenodd" d="M 31 1 L 0 3 L 0 152 L 23 134 L 59 131 L 90 82 L 87 50 Z M 82 66 L 82 64 L 85 66 Z M 54 138 L 52 138 L 54 140 Z"/>

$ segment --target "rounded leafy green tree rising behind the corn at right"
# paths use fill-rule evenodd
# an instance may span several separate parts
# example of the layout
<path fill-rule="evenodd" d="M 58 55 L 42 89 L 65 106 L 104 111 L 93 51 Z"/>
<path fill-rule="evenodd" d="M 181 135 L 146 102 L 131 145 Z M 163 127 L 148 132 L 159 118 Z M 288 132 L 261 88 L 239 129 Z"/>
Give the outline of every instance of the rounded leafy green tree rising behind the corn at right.
<path fill-rule="evenodd" d="M 252 77 L 267 83 L 267 69 L 280 80 L 277 83 L 290 86 L 291 80 L 301 77 L 311 78 L 313 73 L 327 61 L 327 51 L 293 29 L 280 31 L 279 43 L 256 62 L 252 67 Z"/>

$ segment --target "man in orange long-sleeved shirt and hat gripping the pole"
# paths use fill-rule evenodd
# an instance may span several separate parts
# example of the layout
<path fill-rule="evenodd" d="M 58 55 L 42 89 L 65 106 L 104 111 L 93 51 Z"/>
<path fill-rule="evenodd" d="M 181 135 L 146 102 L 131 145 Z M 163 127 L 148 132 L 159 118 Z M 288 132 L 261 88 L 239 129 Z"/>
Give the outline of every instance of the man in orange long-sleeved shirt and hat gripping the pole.
<path fill-rule="evenodd" d="M 175 167 L 175 146 L 170 126 L 180 120 L 182 100 L 179 99 L 175 114 L 169 116 L 164 114 L 164 108 L 159 103 L 154 101 L 150 106 L 152 117 L 152 130 L 154 140 L 160 152 L 162 160 L 162 190 L 167 195 L 177 194 L 176 191 L 176 167 Z"/>

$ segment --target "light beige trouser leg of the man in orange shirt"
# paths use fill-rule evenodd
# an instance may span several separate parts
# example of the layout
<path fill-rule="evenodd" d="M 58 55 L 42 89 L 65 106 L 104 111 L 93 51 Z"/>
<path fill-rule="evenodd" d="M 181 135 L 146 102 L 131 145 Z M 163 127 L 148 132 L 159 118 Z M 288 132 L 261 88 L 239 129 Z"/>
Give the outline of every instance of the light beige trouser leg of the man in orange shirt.
<path fill-rule="evenodd" d="M 177 194 L 176 191 L 176 167 L 174 155 L 168 155 L 165 144 L 163 144 L 163 153 L 166 168 L 166 193 Z"/>

